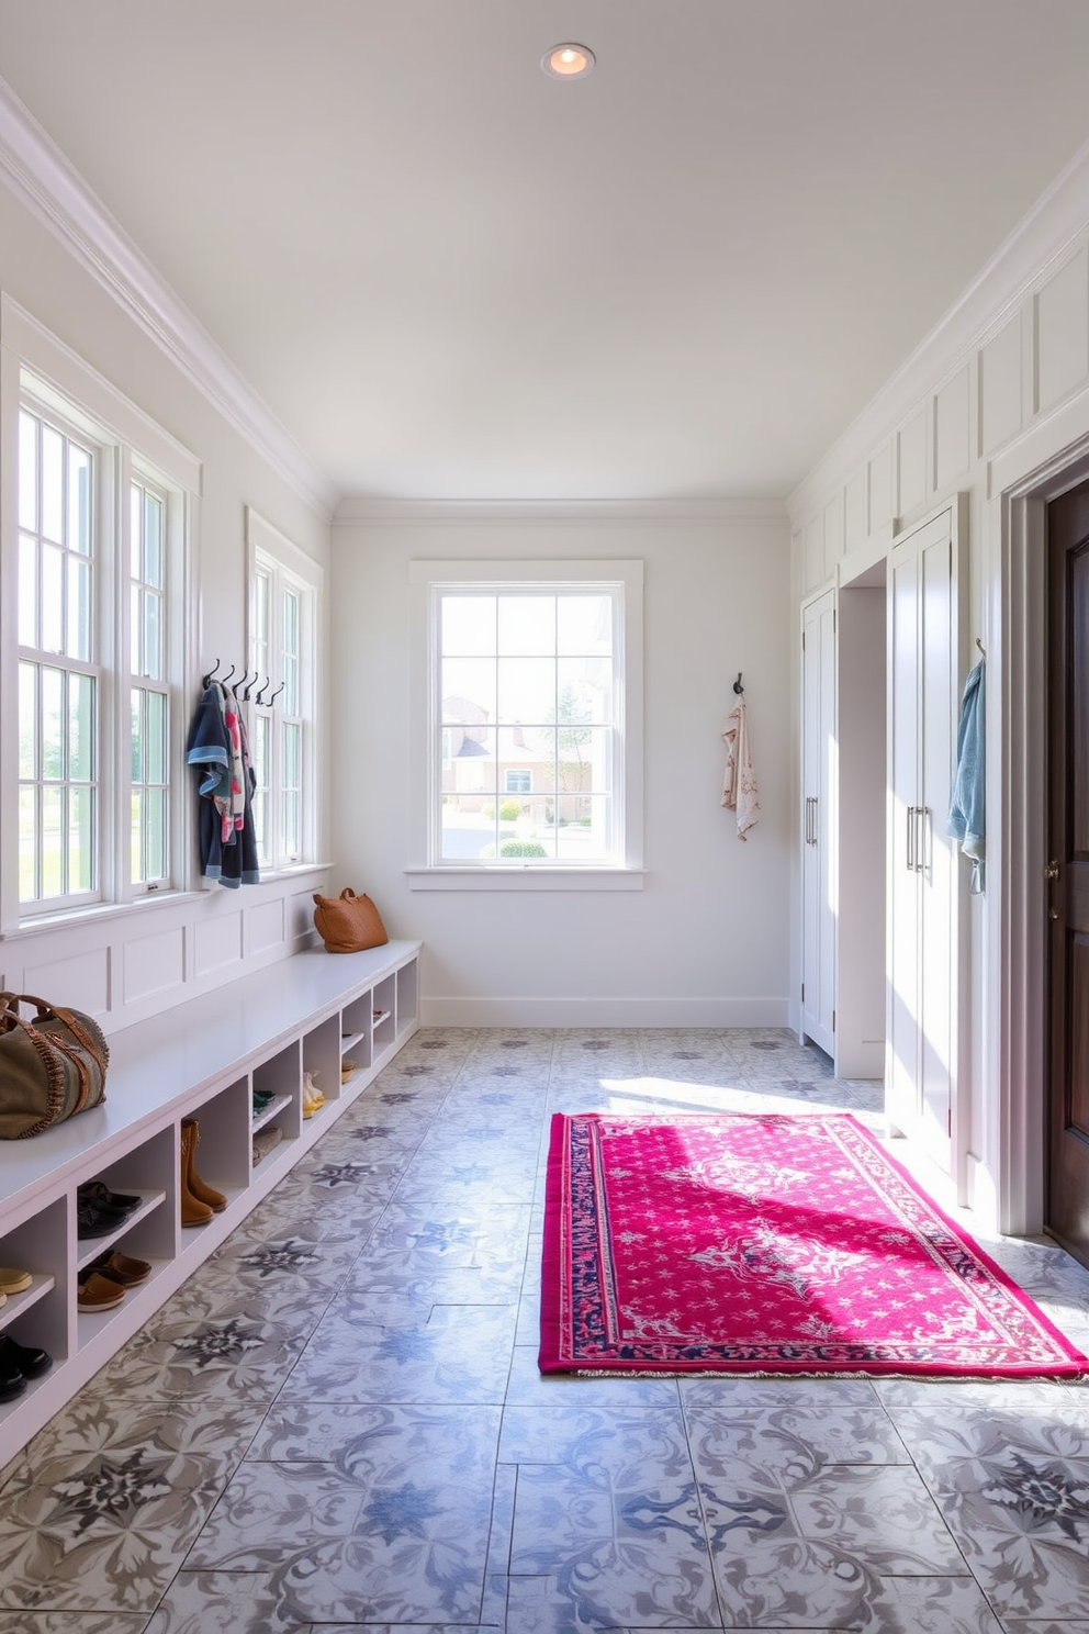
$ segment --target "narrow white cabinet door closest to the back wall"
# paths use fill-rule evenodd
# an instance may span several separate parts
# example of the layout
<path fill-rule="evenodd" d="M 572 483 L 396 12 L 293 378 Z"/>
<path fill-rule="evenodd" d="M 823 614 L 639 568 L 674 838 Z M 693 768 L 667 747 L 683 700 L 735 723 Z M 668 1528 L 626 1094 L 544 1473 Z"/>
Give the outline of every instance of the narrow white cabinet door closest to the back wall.
<path fill-rule="evenodd" d="M 802 609 L 802 1036 L 836 1052 L 836 593 Z"/>

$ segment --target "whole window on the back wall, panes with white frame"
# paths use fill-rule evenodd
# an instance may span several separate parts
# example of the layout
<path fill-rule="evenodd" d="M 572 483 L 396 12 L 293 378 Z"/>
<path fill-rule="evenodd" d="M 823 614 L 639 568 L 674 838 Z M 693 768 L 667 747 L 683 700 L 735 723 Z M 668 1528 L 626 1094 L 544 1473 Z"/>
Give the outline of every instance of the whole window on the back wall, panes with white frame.
<path fill-rule="evenodd" d="M 413 886 L 635 876 L 642 564 L 416 562 L 413 580 Z"/>

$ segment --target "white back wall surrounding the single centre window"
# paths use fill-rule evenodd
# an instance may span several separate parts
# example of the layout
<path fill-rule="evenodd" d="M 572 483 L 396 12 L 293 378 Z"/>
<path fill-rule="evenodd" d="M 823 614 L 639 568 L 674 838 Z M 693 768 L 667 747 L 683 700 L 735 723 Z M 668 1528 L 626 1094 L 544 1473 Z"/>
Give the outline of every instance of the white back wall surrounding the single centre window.
<path fill-rule="evenodd" d="M 604 510 L 604 515 L 602 515 Z M 410 891 L 408 564 L 645 562 L 645 887 Z M 424 941 L 423 1020 L 745 1026 L 787 1015 L 789 534 L 780 507 L 387 507 L 333 528 L 333 882 Z M 720 806 L 745 672 L 762 817 Z"/>

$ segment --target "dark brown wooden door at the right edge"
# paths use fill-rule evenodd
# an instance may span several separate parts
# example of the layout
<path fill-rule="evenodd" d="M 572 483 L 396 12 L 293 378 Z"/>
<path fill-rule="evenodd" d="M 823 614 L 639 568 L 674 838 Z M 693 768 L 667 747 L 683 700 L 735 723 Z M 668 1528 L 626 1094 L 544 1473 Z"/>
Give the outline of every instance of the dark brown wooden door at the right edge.
<path fill-rule="evenodd" d="M 1089 484 L 1048 507 L 1048 1230 L 1089 1265 Z"/>

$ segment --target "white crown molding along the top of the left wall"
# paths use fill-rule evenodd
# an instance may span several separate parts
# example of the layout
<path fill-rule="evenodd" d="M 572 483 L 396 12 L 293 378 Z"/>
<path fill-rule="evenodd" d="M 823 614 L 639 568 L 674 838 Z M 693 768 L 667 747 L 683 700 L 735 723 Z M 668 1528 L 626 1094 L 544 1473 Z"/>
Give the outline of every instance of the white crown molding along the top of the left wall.
<path fill-rule="evenodd" d="M 338 490 L 170 289 L 10 85 L 0 80 L 0 178 L 307 505 Z"/>

